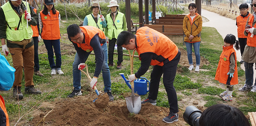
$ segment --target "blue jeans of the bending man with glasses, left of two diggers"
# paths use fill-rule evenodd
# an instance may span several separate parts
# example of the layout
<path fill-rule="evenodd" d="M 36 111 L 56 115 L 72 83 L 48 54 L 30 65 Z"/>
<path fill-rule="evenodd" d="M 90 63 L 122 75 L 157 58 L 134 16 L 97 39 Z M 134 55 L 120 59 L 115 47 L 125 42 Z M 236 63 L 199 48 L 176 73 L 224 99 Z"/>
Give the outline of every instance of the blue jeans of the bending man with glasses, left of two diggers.
<path fill-rule="evenodd" d="M 104 81 L 104 91 L 107 92 L 108 90 L 111 90 L 111 79 L 110 79 L 110 71 L 109 66 L 107 65 L 107 43 L 104 43 L 101 46 L 104 54 L 104 61 L 102 65 L 102 78 Z M 85 61 L 87 60 L 90 53 L 85 54 Z M 73 62 L 73 86 L 75 90 L 81 89 L 81 71 L 78 69 L 78 65 L 80 64 L 79 56 L 76 53 L 76 56 L 74 58 Z"/>

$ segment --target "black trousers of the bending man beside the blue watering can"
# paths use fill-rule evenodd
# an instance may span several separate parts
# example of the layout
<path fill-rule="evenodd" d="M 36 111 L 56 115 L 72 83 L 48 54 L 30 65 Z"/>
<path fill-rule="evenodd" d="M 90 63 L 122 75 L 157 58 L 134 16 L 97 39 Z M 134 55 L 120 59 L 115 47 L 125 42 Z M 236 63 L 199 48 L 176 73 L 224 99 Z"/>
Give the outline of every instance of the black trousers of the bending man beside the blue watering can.
<path fill-rule="evenodd" d="M 180 50 L 176 57 L 170 62 L 164 64 L 163 66 L 154 66 L 151 72 L 150 89 L 149 89 L 149 99 L 156 100 L 157 93 L 159 89 L 160 78 L 163 74 L 163 83 L 168 96 L 168 102 L 170 105 L 170 112 L 177 113 L 178 110 L 178 100 L 176 90 L 173 86 L 173 81 L 176 76 L 176 70 L 178 62 L 180 61 Z"/>

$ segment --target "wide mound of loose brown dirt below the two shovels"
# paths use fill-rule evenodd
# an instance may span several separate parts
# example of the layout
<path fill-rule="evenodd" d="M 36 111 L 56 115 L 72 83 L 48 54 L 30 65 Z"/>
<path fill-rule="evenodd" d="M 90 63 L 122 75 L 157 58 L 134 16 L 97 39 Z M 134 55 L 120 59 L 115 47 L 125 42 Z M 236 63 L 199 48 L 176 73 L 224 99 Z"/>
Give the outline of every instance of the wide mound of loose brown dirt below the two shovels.
<path fill-rule="evenodd" d="M 167 124 L 162 121 L 169 109 L 149 103 L 142 104 L 140 113 L 130 114 L 125 100 L 109 102 L 107 107 L 95 107 L 92 100 L 96 96 L 86 95 L 75 98 L 59 98 L 55 102 L 43 102 L 33 114 L 33 120 L 26 125 L 35 126 L 51 109 L 40 126 L 185 126 L 183 111 L 179 110 L 179 121 Z M 47 108 L 47 109 L 46 109 Z"/>

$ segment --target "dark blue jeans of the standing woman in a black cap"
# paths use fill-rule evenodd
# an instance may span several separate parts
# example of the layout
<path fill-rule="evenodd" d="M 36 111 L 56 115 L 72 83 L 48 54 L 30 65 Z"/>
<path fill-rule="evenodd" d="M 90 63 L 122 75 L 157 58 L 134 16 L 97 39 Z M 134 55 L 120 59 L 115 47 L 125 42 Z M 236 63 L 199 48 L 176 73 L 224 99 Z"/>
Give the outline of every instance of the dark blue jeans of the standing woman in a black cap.
<path fill-rule="evenodd" d="M 45 43 L 45 48 L 47 49 L 48 54 L 48 60 L 51 69 L 61 69 L 61 45 L 60 40 L 43 40 L 43 43 Z M 54 52 L 52 47 L 54 47 L 54 52 L 56 56 L 56 65 L 54 63 Z"/>

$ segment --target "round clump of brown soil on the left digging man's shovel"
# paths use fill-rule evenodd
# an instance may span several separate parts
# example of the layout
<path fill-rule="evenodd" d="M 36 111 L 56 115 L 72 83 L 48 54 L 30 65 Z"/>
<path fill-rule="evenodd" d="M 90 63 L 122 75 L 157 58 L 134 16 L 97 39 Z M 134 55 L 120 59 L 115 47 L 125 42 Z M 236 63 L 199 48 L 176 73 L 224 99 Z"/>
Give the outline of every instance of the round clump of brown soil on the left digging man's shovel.
<path fill-rule="evenodd" d="M 107 93 L 104 93 L 103 95 L 98 95 L 98 98 L 95 100 L 94 105 L 97 108 L 103 109 L 109 105 L 109 96 Z"/>

